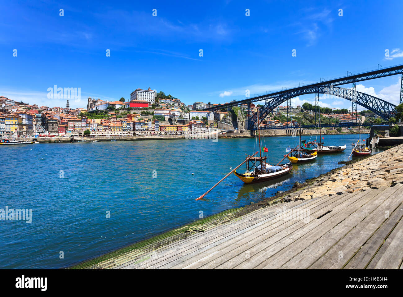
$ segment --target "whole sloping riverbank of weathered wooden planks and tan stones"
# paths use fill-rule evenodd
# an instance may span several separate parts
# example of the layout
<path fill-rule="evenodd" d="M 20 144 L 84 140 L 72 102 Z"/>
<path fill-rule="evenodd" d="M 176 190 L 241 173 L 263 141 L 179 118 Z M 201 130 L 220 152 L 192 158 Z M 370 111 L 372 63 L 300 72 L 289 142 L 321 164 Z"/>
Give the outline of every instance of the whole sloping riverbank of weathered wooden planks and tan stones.
<path fill-rule="evenodd" d="M 403 269 L 402 193 L 399 145 L 73 268 Z"/>

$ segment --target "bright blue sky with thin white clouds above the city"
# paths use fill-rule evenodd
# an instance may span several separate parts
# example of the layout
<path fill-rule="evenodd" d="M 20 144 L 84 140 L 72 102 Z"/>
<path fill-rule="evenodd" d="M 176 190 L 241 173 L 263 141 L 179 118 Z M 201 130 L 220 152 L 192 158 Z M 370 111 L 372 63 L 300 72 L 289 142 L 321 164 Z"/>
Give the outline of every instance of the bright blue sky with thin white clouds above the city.
<path fill-rule="evenodd" d="M 75 108 L 88 96 L 129 99 L 150 86 L 186 104 L 224 103 L 246 89 L 262 94 L 403 63 L 401 0 L 172 2 L 1 1 L 0 95 L 64 107 L 47 89 L 77 87 Z M 400 76 L 357 90 L 396 104 Z M 312 100 L 304 95 L 293 105 Z M 321 105 L 351 107 L 345 99 Z"/>

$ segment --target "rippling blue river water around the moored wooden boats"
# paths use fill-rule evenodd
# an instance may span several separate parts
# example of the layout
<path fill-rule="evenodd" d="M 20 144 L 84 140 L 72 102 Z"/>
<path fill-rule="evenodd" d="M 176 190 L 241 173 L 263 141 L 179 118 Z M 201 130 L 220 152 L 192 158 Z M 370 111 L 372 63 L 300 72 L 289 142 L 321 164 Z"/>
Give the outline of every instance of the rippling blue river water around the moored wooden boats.
<path fill-rule="evenodd" d="M 324 137 L 326 145 L 347 149 L 294 165 L 272 182 L 245 185 L 231 175 L 199 201 L 230 166 L 253 154 L 255 139 L 2 146 L 0 209 L 32 209 L 32 222 L 0 221 L 0 268 L 66 267 L 197 220 L 199 211 L 206 217 L 289 190 L 295 181 L 341 166 L 357 141 L 357 135 Z M 270 164 L 297 142 L 262 138 Z"/>

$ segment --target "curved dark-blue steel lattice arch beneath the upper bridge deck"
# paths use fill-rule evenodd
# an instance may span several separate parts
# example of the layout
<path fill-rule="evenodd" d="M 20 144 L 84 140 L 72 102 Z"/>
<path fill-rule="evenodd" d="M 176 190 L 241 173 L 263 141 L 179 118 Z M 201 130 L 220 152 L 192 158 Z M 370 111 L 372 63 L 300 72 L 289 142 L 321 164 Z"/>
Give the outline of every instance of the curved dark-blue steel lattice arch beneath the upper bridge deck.
<path fill-rule="evenodd" d="M 327 94 L 335 97 L 347 99 L 349 101 L 356 102 L 357 104 L 365 107 L 367 110 L 374 112 L 385 120 L 389 120 L 395 113 L 396 105 L 384 101 L 378 97 L 351 90 L 348 88 L 341 88 L 337 86 L 309 86 L 307 88 L 300 88 L 298 90 L 290 90 L 282 95 L 274 97 L 271 100 L 266 100 L 266 104 L 261 108 L 259 114 L 260 118 L 265 118 L 270 112 L 274 110 L 278 105 L 285 101 L 305 94 Z M 355 101 L 354 101 L 355 100 Z M 255 129 L 257 122 L 257 114 L 253 114 L 249 118 L 249 127 L 251 130 Z"/>

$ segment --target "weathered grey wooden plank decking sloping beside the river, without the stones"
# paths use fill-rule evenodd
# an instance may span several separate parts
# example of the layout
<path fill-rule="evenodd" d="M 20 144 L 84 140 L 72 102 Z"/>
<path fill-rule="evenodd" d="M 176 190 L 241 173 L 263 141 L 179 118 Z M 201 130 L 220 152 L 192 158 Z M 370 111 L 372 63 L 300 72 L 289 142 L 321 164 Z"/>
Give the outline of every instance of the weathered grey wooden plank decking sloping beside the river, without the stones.
<path fill-rule="evenodd" d="M 269 206 L 98 268 L 403 269 L 402 190 L 397 183 Z M 303 218 L 287 217 L 290 210 Z"/>

